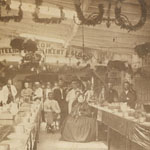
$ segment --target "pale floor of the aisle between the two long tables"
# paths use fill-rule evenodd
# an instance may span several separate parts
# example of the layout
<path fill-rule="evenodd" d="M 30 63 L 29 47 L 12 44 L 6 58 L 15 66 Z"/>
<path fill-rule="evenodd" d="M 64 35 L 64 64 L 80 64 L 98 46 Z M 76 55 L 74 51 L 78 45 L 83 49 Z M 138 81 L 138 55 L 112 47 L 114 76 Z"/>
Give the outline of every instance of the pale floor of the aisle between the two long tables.
<path fill-rule="evenodd" d="M 107 150 L 103 142 L 72 143 L 60 141 L 60 133 L 41 131 L 38 150 Z"/>

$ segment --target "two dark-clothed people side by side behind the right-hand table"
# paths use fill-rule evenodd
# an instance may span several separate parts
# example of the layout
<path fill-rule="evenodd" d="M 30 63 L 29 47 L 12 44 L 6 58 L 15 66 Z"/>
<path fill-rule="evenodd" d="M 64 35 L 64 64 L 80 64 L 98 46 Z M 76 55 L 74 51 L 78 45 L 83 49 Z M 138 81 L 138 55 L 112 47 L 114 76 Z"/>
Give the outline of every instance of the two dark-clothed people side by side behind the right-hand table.
<path fill-rule="evenodd" d="M 132 84 L 128 81 L 123 83 L 123 90 L 119 95 L 117 90 L 113 88 L 113 84 L 108 82 L 107 86 L 103 86 L 99 94 L 99 102 L 104 103 L 113 103 L 113 102 L 124 102 L 130 108 L 135 108 L 137 101 L 136 91 L 133 89 Z"/>

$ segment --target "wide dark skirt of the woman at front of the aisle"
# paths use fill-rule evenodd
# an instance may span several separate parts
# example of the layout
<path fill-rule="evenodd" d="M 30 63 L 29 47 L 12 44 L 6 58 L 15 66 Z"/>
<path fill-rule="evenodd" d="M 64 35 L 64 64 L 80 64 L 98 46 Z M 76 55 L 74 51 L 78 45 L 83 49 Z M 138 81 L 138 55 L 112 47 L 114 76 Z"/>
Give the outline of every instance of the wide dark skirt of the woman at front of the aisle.
<path fill-rule="evenodd" d="M 78 118 L 69 115 L 63 123 L 61 140 L 70 142 L 90 142 L 96 139 L 96 119 L 87 116 Z"/>

